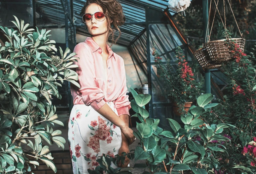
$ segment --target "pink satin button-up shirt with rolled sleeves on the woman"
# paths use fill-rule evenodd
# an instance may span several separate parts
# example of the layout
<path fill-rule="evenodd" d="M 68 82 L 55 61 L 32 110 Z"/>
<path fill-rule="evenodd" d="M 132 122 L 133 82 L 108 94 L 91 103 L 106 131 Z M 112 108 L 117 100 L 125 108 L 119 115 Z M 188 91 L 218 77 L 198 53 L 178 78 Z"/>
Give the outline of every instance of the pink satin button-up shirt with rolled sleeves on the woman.
<path fill-rule="evenodd" d="M 81 88 L 71 86 L 73 104 L 91 105 L 94 110 L 98 110 L 106 102 L 113 101 L 118 116 L 130 115 L 131 102 L 126 95 L 124 60 L 108 45 L 107 51 L 107 69 L 104 70 L 102 49 L 91 37 L 75 46 L 74 57 L 79 59 L 73 64 L 78 65 L 76 72 Z"/>

